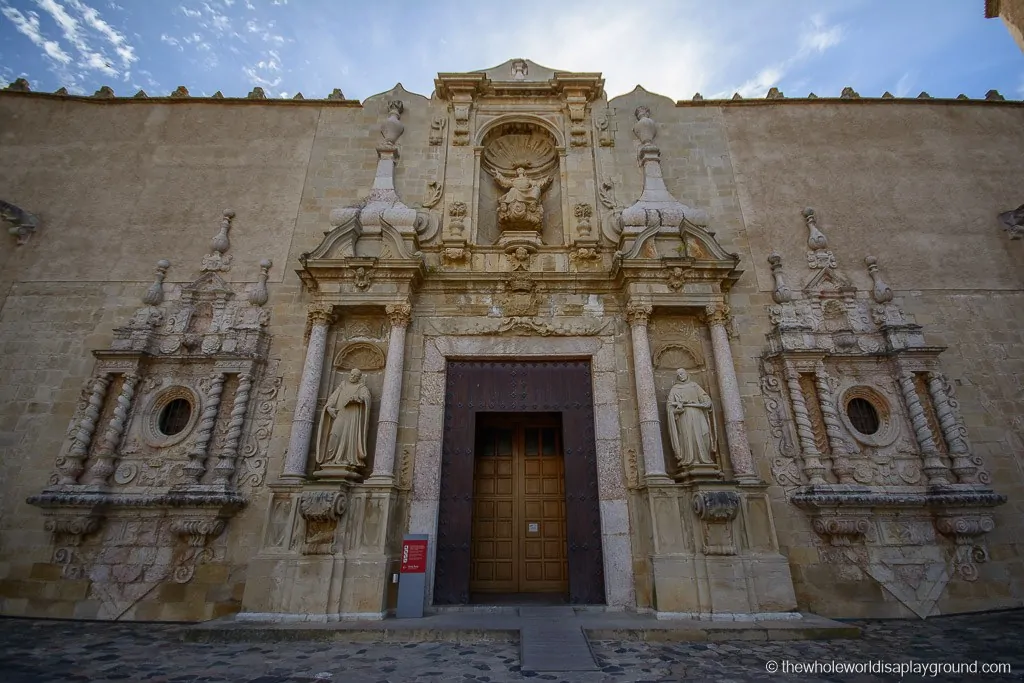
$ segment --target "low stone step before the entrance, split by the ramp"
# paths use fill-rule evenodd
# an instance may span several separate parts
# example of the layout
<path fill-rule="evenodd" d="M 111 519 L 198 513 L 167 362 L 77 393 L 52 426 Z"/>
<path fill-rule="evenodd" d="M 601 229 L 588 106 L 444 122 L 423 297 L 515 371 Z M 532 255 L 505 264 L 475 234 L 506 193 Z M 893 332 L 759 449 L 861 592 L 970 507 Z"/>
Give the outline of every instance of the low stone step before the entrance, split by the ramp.
<path fill-rule="evenodd" d="M 273 642 L 333 640 L 351 642 L 519 642 L 527 618 L 516 614 L 446 613 L 422 618 L 376 622 L 254 623 L 230 617 L 186 629 L 188 642 Z M 814 614 L 799 620 L 702 622 L 657 620 L 634 612 L 578 611 L 566 617 L 590 640 L 702 642 L 727 640 L 831 640 L 859 638 L 860 629 Z"/>

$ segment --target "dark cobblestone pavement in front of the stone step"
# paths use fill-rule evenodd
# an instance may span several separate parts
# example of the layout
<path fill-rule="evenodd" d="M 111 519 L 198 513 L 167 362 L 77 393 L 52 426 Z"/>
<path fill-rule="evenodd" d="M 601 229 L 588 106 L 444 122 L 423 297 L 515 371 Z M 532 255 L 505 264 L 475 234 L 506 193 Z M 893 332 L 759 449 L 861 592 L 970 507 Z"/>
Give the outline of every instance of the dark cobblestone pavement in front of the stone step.
<path fill-rule="evenodd" d="M 0 681 L 374 683 L 426 681 L 1024 681 L 1024 610 L 927 622 L 855 622 L 860 640 L 595 642 L 601 672 L 519 670 L 514 643 L 185 643 L 182 626 L 0 620 Z M 787 664 L 911 661 L 973 666 L 932 676 L 798 674 Z M 780 669 L 772 674 L 768 668 Z M 985 674 L 985 664 L 1010 665 Z"/>

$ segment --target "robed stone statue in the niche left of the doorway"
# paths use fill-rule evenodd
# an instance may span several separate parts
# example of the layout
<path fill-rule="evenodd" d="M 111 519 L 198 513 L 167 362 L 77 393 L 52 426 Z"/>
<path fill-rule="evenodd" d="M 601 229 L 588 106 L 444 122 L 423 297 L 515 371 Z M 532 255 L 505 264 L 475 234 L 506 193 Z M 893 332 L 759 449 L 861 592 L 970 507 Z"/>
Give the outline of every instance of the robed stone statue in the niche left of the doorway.
<path fill-rule="evenodd" d="M 327 399 L 316 438 L 316 464 L 328 475 L 352 478 L 367 461 L 367 435 L 370 430 L 370 404 L 373 398 L 362 371 L 348 373 Z M 327 441 L 323 432 L 330 420 Z"/>

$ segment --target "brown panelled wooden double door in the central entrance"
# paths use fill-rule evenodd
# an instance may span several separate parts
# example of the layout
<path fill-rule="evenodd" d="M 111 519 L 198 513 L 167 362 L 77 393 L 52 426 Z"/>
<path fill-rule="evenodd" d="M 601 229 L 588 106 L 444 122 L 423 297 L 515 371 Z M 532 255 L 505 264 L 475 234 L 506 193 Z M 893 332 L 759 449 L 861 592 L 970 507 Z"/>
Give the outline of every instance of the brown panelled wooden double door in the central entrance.
<path fill-rule="evenodd" d="M 565 459 L 557 414 L 477 416 L 469 590 L 568 593 Z"/>

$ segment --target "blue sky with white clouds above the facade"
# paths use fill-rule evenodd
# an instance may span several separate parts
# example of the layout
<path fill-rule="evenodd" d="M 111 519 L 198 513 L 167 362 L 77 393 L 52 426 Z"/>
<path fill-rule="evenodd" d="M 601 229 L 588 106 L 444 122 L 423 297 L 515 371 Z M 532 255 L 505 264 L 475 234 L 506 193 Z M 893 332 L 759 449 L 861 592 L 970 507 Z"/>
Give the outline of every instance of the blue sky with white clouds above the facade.
<path fill-rule="evenodd" d="M 609 97 L 1024 98 L 984 0 L 0 0 L 0 85 L 36 91 L 429 96 L 437 72 L 512 57 L 601 72 Z"/>

